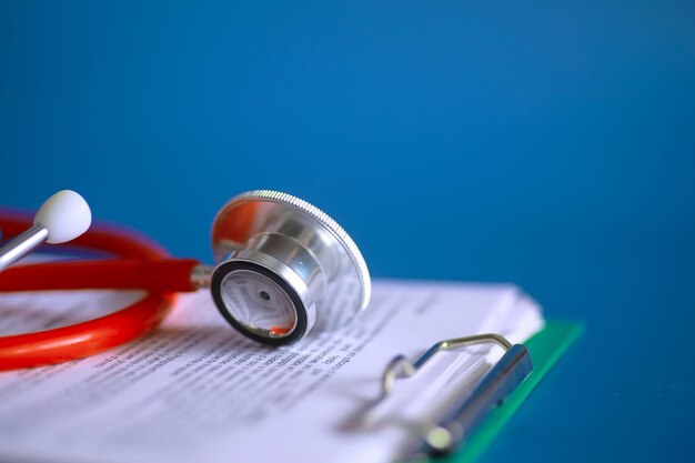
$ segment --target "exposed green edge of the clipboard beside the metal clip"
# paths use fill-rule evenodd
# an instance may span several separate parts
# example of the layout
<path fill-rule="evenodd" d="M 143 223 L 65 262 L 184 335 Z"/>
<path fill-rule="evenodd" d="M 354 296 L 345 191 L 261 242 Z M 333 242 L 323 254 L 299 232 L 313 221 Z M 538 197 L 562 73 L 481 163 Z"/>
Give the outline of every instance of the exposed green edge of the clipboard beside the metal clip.
<path fill-rule="evenodd" d="M 432 463 L 472 463 L 479 460 L 528 394 L 580 339 L 584 330 L 585 325 L 582 322 L 547 321 L 543 331 L 524 343 L 533 361 L 531 375 L 504 401 L 504 404 L 490 413 L 462 449 L 452 455 L 430 461 Z"/>

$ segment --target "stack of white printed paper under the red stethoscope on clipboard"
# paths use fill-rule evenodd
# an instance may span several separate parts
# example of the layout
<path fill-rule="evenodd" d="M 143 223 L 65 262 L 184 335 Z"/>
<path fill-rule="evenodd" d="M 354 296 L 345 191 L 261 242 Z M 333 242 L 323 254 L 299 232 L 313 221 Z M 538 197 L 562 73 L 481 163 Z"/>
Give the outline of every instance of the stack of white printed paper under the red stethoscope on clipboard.
<path fill-rule="evenodd" d="M 72 323 L 142 296 L 2 294 L 0 333 Z M 414 360 L 443 339 L 485 332 L 523 342 L 542 328 L 538 305 L 513 285 L 379 280 L 352 323 L 269 348 L 229 326 L 207 291 L 182 294 L 141 340 L 0 373 L 0 461 L 389 462 L 502 350 L 436 355 L 380 400 L 393 356 Z"/>

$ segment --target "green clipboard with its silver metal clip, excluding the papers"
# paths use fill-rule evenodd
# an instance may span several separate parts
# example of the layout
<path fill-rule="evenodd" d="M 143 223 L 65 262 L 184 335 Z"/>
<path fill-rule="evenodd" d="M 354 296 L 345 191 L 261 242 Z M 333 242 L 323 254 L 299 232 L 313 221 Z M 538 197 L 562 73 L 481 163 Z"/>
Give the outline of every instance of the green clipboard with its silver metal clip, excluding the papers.
<path fill-rule="evenodd" d="M 423 430 L 422 437 L 402 461 L 476 461 L 583 332 L 581 322 L 551 321 L 525 344 L 513 345 L 497 334 L 479 334 L 441 341 L 412 363 L 402 355 L 394 358 L 384 372 L 381 399 L 391 393 L 399 373 L 416 374 L 441 351 L 485 343 L 496 343 L 506 351 L 470 394 L 461 397 L 443 419 Z"/>

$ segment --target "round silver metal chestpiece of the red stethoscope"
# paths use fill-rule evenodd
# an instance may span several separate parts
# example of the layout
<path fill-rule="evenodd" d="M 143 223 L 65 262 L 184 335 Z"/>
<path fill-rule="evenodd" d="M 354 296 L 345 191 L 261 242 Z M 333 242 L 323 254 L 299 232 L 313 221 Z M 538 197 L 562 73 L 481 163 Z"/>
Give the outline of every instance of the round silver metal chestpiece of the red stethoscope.
<path fill-rule="evenodd" d="M 312 330 L 336 330 L 369 304 L 370 274 L 354 241 L 290 194 L 256 190 L 233 198 L 214 219 L 212 246 L 212 298 L 232 326 L 255 341 L 282 345 Z"/>

